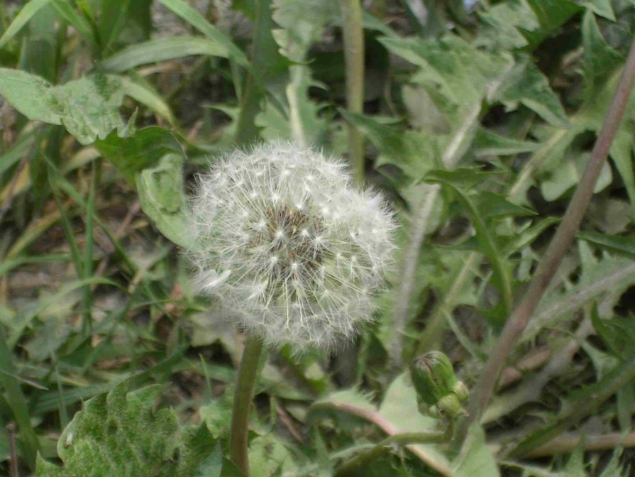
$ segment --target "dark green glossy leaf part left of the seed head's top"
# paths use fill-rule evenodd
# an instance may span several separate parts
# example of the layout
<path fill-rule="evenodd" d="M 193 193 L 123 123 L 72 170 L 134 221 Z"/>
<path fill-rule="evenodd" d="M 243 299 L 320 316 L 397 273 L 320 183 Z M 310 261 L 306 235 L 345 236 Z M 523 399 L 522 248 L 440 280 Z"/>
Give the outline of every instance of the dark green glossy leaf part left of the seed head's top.
<path fill-rule="evenodd" d="M 175 134 L 158 126 L 139 129 L 124 138 L 113 132 L 96 141 L 95 148 L 131 183 L 136 172 L 155 165 L 167 153 L 182 153 Z"/>

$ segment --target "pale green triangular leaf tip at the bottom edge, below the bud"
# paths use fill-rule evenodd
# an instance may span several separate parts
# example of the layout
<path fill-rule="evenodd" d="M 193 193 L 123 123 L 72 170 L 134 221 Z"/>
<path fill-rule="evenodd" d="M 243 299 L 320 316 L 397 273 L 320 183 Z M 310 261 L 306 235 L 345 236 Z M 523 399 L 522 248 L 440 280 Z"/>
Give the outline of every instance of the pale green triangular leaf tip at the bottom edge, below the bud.
<path fill-rule="evenodd" d="M 485 432 L 478 422 L 468 429 L 460 454 L 452 463 L 452 472 L 455 477 L 500 476 L 492 451 L 487 447 Z"/>

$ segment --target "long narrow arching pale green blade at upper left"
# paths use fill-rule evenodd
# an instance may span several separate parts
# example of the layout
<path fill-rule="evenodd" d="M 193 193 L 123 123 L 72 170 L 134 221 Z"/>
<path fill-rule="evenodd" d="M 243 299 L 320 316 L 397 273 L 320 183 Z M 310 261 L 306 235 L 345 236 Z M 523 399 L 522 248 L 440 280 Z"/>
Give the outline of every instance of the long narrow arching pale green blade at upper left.
<path fill-rule="evenodd" d="M 194 36 L 170 36 L 128 46 L 101 62 L 104 70 L 124 72 L 131 68 L 190 55 L 228 57 L 226 45 Z"/>

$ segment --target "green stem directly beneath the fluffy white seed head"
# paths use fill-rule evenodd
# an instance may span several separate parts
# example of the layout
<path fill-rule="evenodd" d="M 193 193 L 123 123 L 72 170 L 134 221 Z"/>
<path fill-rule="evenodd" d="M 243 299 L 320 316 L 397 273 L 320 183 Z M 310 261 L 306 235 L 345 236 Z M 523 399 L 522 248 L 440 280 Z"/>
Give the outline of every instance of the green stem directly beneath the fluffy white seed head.
<path fill-rule="evenodd" d="M 231 411 L 229 459 L 243 471 L 245 476 L 249 476 L 249 458 L 247 454 L 249 410 L 262 351 L 263 342 L 257 336 L 249 336 L 247 341 L 245 341 L 241 368 L 238 370 L 236 393 L 233 398 L 233 409 Z"/>

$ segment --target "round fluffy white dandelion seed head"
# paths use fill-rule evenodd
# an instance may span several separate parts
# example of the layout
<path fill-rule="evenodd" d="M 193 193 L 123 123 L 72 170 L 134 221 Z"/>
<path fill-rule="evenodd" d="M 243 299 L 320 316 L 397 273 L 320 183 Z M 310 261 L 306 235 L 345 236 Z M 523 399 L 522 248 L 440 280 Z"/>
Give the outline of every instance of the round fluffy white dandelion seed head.
<path fill-rule="evenodd" d="M 339 160 L 292 143 L 236 150 L 190 202 L 200 290 L 267 344 L 328 349 L 372 315 L 395 224 Z"/>

